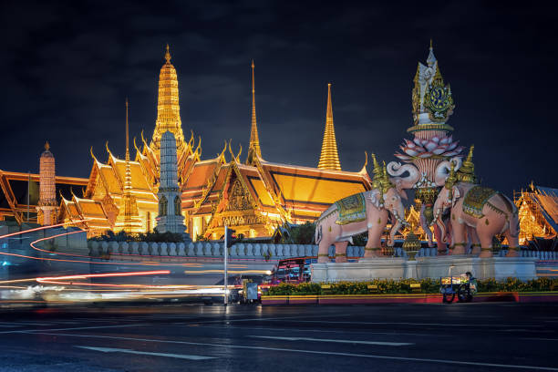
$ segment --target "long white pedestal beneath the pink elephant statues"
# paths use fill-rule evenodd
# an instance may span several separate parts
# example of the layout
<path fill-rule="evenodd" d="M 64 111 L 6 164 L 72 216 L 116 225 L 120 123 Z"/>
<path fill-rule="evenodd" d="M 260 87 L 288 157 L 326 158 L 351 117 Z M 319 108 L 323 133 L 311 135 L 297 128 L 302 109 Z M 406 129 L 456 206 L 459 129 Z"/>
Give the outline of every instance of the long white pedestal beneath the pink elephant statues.
<path fill-rule="evenodd" d="M 466 255 L 418 257 L 417 261 L 403 258 L 361 259 L 357 263 L 313 263 L 312 282 L 364 282 L 373 279 L 433 278 L 470 272 L 478 279 L 521 280 L 536 278 L 532 257 L 479 258 Z M 451 268 L 451 269 L 450 269 Z"/>

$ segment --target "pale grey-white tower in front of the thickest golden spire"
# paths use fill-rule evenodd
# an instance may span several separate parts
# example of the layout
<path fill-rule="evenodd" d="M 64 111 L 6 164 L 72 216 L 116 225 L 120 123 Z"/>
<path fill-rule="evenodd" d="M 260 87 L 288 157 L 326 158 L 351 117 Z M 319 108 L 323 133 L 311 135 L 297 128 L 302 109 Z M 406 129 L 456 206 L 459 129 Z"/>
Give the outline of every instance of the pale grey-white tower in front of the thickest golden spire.
<path fill-rule="evenodd" d="M 181 214 L 181 193 L 178 187 L 176 140 L 167 130 L 160 138 L 159 233 L 184 233 L 184 216 Z"/>

